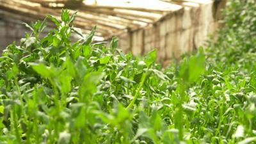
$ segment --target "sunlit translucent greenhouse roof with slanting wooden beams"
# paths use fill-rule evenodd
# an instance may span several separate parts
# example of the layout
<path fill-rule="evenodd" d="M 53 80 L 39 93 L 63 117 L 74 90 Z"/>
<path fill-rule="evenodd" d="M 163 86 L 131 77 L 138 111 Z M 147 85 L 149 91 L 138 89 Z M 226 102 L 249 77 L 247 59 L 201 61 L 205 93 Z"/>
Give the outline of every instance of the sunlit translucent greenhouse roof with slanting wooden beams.
<path fill-rule="evenodd" d="M 42 20 L 47 14 L 61 19 L 63 8 L 77 10 L 77 28 L 88 33 L 96 25 L 95 35 L 104 40 L 154 24 L 184 6 L 198 6 L 206 1 L 210 0 L 0 0 L 0 16 L 31 22 Z"/>

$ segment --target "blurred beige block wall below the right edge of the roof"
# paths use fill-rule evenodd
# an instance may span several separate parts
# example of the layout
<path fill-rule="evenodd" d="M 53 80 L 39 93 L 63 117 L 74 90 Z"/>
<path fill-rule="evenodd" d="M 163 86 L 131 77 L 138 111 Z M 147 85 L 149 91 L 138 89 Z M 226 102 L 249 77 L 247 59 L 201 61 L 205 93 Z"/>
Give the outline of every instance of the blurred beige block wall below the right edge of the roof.
<path fill-rule="evenodd" d="M 201 45 L 220 27 L 221 9 L 225 1 L 205 1 L 184 6 L 155 24 L 119 36 L 119 45 L 125 51 L 140 55 L 157 49 L 159 61 L 179 58 Z"/>

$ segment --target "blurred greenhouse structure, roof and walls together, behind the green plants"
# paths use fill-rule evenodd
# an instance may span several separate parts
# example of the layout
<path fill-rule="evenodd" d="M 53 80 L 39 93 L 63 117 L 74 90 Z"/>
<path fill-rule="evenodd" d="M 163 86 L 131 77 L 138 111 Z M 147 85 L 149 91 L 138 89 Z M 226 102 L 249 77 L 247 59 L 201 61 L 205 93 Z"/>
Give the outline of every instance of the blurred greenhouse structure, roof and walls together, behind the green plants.
<path fill-rule="evenodd" d="M 61 10 L 77 11 L 75 26 L 84 35 L 93 26 L 93 40 L 118 36 L 119 47 L 134 55 L 158 49 L 160 61 L 179 58 L 204 45 L 221 26 L 226 1 L 214 0 L 0 0 L 0 49 L 29 33 L 23 22 L 44 20 L 47 14 L 61 19 Z M 54 28 L 50 21 L 45 34 Z M 74 39 L 79 36 L 73 36 Z"/>

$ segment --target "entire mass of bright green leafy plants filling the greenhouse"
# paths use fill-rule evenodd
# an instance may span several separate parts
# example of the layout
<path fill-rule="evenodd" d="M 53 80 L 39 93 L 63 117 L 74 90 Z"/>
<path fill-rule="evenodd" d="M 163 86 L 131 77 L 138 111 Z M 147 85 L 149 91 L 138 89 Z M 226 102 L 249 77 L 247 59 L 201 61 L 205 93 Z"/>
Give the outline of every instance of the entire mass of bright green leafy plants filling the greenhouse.
<path fill-rule="evenodd" d="M 163 70 L 156 51 L 92 43 L 63 10 L 0 57 L 0 143 L 253 143 L 256 4 L 234 0 L 216 43 Z M 77 33 L 81 40 L 72 43 Z M 204 54 L 205 53 L 205 54 Z"/>

